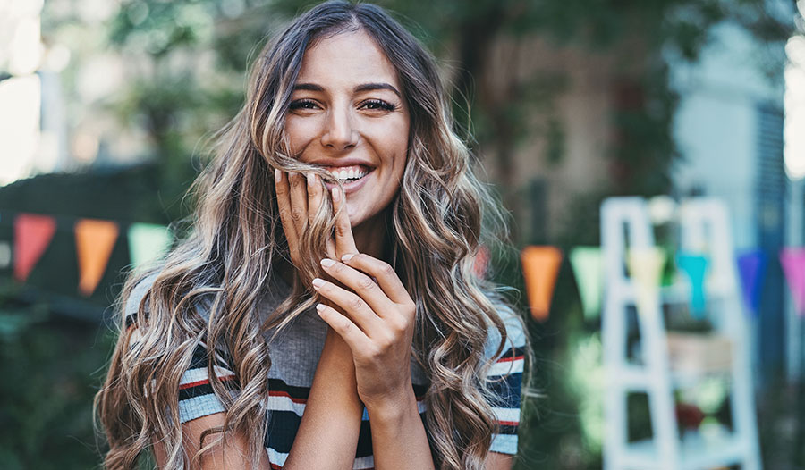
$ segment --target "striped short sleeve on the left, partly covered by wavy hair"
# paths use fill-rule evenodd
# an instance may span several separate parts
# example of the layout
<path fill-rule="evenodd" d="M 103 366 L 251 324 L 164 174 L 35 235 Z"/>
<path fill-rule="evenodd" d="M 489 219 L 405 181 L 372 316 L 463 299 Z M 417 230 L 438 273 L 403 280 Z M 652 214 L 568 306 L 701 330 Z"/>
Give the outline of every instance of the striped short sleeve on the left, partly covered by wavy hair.
<path fill-rule="evenodd" d="M 148 293 L 156 274 L 146 277 L 131 290 L 129 298 L 126 300 L 124 315 L 126 328 L 131 328 L 137 318 L 138 309 L 142 298 Z M 199 306 L 200 307 L 200 306 Z M 148 309 L 148 307 L 146 307 Z M 131 332 L 129 348 L 137 348 L 140 344 L 140 332 Z M 213 415 L 225 411 L 224 404 L 213 392 L 212 385 L 209 383 L 207 368 L 208 348 L 204 343 L 199 343 L 191 357 L 191 363 L 187 370 L 182 373 L 179 381 L 179 421 L 186 423 L 196 418 L 206 415 Z M 237 387 L 236 377 L 233 373 L 231 360 L 220 352 L 216 351 L 216 376 L 233 390 Z"/>

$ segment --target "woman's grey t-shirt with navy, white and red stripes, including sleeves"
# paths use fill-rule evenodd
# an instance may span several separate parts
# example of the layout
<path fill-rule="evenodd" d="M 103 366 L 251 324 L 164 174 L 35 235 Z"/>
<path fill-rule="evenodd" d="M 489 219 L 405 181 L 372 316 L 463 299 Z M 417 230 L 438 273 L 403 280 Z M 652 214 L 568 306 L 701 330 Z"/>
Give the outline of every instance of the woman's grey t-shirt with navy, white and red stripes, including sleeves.
<path fill-rule="evenodd" d="M 126 303 L 127 324 L 132 324 L 137 314 L 140 299 L 146 294 L 153 277 L 140 282 L 131 292 Z M 287 295 L 290 288 L 281 279 L 271 283 L 273 289 L 260 303 L 260 311 L 268 315 Z M 199 314 L 207 316 L 208 305 L 197 306 Z M 519 322 L 511 315 L 504 317 L 508 333 L 508 344 L 503 353 L 496 358 L 488 374 L 490 390 L 496 399 L 492 403 L 498 420 L 499 432 L 493 435 L 490 450 L 504 454 L 517 452 L 517 428 L 520 424 L 521 380 L 523 367 L 523 348 L 525 336 Z M 318 358 L 321 356 L 326 337 L 327 324 L 319 318 L 314 309 L 299 315 L 269 343 L 271 368 L 268 371 L 268 412 L 266 433 L 266 452 L 271 468 L 284 466 L 291 451 L 296 432 L 299 430 L 301 416 L 305 411 L 310 385 L 316 373 Z M 273 331 L 266 333 L 267 339 Z M 487 341 L 486 354 L 492 359 L 500 336 L 492 329 Z M 136 344 L 136 343 L 135 343 Z M 135 347 L 132 344 L 131 347 Z M 203 344 L 193 351 L 191 365 L 182 375 L 179 383 L 180 421 L 186 423 L 214 413 L 225 411 L 221 401 L 213 393 L 207 372 L 208 350 Z M 216 352 L 216 374 L 222 381 L 230 382 L 236 389 L 237 377 L 234 367 L 225 353 Z M 419 414 L 425 420 L 428 408 L 424 396 L 428 390 L 428 379 L 421 367 L 411 359 L 411 382 L 417 397 Z M 369 428 L 369 415 L 364 409 L 360 424 L 358 448 L 352 468 L 373 468 L 372 441 Z"/>

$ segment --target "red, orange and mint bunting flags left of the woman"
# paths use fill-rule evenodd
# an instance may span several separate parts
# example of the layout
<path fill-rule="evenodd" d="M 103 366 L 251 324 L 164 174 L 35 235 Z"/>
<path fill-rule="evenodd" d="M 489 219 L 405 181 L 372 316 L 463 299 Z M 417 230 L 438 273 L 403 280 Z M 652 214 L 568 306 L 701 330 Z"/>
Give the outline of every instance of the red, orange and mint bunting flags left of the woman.
<path fill-rule="evenodd" d="M 2 221 L 2 214 L 0 214 Z M 13 277 L 25 282 L 53 241 L 57 228 L 70 224 L 75 235 L 79 268 L 78 292 L 89 297 L 100 282 L 109 256 L 120 238 L 118 222 L 99 219 L 64 219 L 44 214 L 16 214 L 13 217 L 13 243 L 0 240 L 0 269 L 13 264 Z M 126 237 L 131 264 L 137 268 L 163 256 L 173 242 L 164 225 L 135 222 L 128 225 Z M 13 249 L 12 249 L 13 247 Z"/>

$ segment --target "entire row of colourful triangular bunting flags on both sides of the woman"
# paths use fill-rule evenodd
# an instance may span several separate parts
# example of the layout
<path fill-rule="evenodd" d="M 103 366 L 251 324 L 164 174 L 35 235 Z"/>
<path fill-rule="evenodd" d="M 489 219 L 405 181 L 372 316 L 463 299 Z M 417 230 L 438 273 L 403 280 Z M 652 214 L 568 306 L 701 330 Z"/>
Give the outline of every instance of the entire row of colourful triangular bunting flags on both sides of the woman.
<path fill-rule="evenodd" d="M 2 220 L 2 215 L 0 215 Z M 120 239 L 118 222 L 98 219 L 57 219 L 44 214 L 16 214 L 13 217 L 13 243 L 0 240 L 0 269 L 13 264 L 13 277 L 25 282 L 54 238 L 57 226 L 72 224 L 79 267 L 80 295 L 89 297 L 106 272 L 109 256 Z M 64 229 L 64 227 L 61 227 Z M 173 242 L 173 234 L 163 225 L 131 223 L 125 231 L 131 264 L 136 268 L 163 256 Z M 13 247 L 13 249 L 12 249 Z M 564 260 L 560 248 L 530 246 L 521 251 L 522 273 L 529 299 L 530 313 L 538 321 L 547 320 L 554 295 L 556 279 Z M 667 264 L 674 262 L 676 272 L 691 286 L 690 309 L 695 318 L 702 318 L 707 304 L 704 284 L 708 276 L 708 256 L 700 253 L 678 252 L 669 256 L 665 248 L 632 250 L 627 254 L 626 267 L 638 289 L 638 307 L 645 307 L 659 295 L 660 287 L 669 285 L 674 277 L 665 276 Z M 575 247 L 567 256 L 579 289 L 582 310 L 587 319 L 601 311 L 604 269 L 601 249 Z M 483 250 L 476 260 L 479 272 L 489 262 Z M 741 281 L 744 305 L 750 315 L 757 315 L 760 296 L 768 268 L 768 256 L 759 249 L 743 252 L 736 264 Z M 794 305 L 805 315 L 805 248 L 784 248 L 779 261 Z M 674 272 L 673 270 L 671 270 Z"/>

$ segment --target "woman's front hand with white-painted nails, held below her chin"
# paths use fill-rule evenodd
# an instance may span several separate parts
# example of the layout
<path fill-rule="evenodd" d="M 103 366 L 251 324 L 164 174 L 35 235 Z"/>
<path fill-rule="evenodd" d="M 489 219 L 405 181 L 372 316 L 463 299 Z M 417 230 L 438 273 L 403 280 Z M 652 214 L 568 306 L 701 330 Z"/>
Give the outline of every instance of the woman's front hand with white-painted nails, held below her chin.
<path fill-rule="evenodd" d="M 346 315 L 324 304 L 316 307 L 318 315 L 352 350 L 358 395 L 370 412 L 408 404 L 416 305 L 389 264 L 366 254 L 342 261 L 326 258 L 321 265 L 346 289 L 323 279 L 313 287 Z"/>

